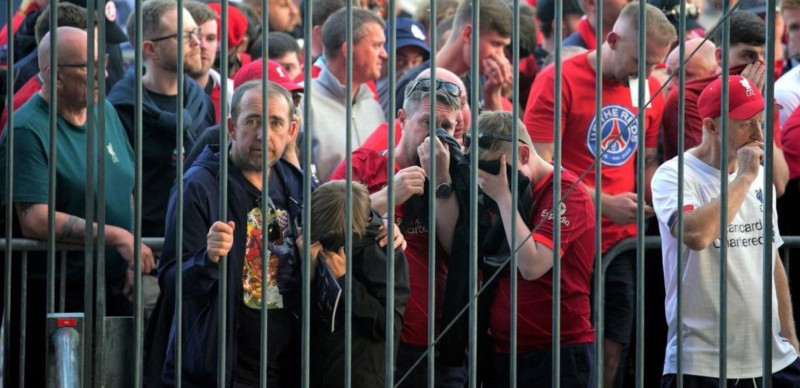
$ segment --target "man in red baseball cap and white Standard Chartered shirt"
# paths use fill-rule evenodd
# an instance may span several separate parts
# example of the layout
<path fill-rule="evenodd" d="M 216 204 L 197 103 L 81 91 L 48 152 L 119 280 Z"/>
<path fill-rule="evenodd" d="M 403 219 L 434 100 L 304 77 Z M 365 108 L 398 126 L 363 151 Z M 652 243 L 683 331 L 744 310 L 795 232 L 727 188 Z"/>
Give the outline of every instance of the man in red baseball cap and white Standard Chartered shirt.
<path fill-rule="evenodd" d="M 688 386 L 716 386 L 719 366 L 719 255 L 722 244 L 727 250 L 728 322 L 735 322 L 728 332 L 726 385 L 733 380 L 752 379 L 761 385 L 762 358 L 762 251 L 764 230 L 774 230 L 773 246 L 767 260 L 774 260 L 772 286 L 772 382 L 776 386 L 800 386 L 798 339 L 794 331 L 792 306 L 786 271 L 778 256 L 782 246 L 773 207 L 773 225 L 762 225 L 764 213 L 764 98 L 758 86 L 747 78 L 730 76 L 728 82 L 728 140 L 722 142 L 722 78 L 706 86 L 698 98 L 702 117 L 702 142 L 684 154 L 683 181 L 678 182 L 678 158 L 658 168 L 651 184 L 653 206 L 662 238 L 666 320 L 669 334 L 661 386 L 677 385 L 677 332 L 683 334 L 683 356 L 691 359 L 683 365 L 683 383 Z M 776 104 L 777 109 L 781 106 Z M 728 159 L 721 160 L 722 147 Z M 721 211 L 720 175 L 728 172 L 728 203 Z M 683 203 L 678 207 L 678 185 L 683 186 Z M 774 203 L 773 198 L 767 198 Z M 678 246 L 678 212 L 683 213 L 683 244 Z M 722 217 L 728 225 L 721 241 Z M 678 250 L 683 252 L 682 274 L 678 278 Z M 677 289 L 682 282 L 682 322 L 678 322 Z M 733 358 L 731 358 L 733 355 Z"/>

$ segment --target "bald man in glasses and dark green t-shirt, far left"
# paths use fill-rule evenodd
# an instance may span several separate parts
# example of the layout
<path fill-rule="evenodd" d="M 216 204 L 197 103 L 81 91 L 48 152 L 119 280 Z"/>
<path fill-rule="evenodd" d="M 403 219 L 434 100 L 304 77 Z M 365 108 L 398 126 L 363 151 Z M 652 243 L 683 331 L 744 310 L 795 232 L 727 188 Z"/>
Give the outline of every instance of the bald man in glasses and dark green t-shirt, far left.
<path fill-rule="evenodd" d="M 97 177 L 86 177 L 86 135 L 90 128 L 86 122 L 90 114 L 86 108 L 88 100 L 98 99 L 98 89 L 86 90 L 89 77 L 104 76 L 103 59 L 94 59 L 94 74 L 88 73 L 86 54 L 86 32 L 74 27 L 59 27 L 57 33 L 58 65 L 50 66 L 50 33 L 42 38 L 39 45 L 39 68 L 42 72 L 42 90 L 34 94 L 28 102 L 14 114 L 14 144 L 8 144 L 9 130 L 0 138 L 0 160 L 6 162 L 9 146 L 14 147 L 14 194 L 11 204 L 4 198 L 4 211 L 14 211 L 14 238 L 34 238 L 46 240 L 48 230 L 55 230 L 58 242 L 84 244 L 86 242 L 86 189 L 97 185 Z M 94 51 L 97 55 L 97 50 Z M 51 74 L 55 72 L 56 83 L 50 84 Z M 103 74 L 103 75 L 100 75 Z M 54 94 L 51 94 L 54 93 Z M 57 160 L 50 160 L 50 119 L 51 103 L 56 104 L 56 146 Z M 106 211 L 106 314 L 126 316 L 133 313 L 128 300 L 132 286 L 131 270 L 134 267 L 134 236 L 130 234 L 133 225 L 133 212 L 130 208 L 130 193 L 134 189 L 134 154 L 127 141 L 125 130 L 119 122 L 117 113 L 108 102 L 105 121 L 98 128 L 106 131 L 103 144 L 92 144 L 97 157 L 105 158 L 106 192 L 96 193 L 94 198 L 105 198 Z M 56 187 L 55 222 L 48 223 L 48 165 L 55 163 Z M 93 161 L 97 163 L 98 161 Z M 5 186 L 6 168 L 0 172 L 0 184 Z M 13 210 L 12 210 L 13 209 Z M 6 226 L 9 227 L 9 226 Z M 31 252 L 29 257 L 36 253 Z M 46 317 L 46 260 L 30 260 L 28 271 L 28 298 L 26 330 L 30 333 L 44 333 Z M 83 310 L 84 255 L 82 251 L 67 254 L 66 294 L 60 295 L 66 302 L 66 311 Z M 142 246 L 142 272 L 153 270 L 153 254 L 147 246 Z M 22 276 L 14 277 L 20 279 Z M 58 298 L 58 295 L 57 295 Z M 12 314 L 19 318 L 20 314 Z M 19 323 L 12 324 L 18 328 Z M 12 332 L 14 338 L 18 333 Z M 45 354 L 45 337 L 26 336 L 26 352 L 30 359 L 42 359 Z M 14 350 L 11 350 L 14 352 Z M 14 354 L 14 353 L 12 353 Z M 14 384 L 18 367 L 12 366 L 9 378 Z M 44 386 L 41 367 L 35 362 L 26 364 L 25 382 L 30 386 Z"/>

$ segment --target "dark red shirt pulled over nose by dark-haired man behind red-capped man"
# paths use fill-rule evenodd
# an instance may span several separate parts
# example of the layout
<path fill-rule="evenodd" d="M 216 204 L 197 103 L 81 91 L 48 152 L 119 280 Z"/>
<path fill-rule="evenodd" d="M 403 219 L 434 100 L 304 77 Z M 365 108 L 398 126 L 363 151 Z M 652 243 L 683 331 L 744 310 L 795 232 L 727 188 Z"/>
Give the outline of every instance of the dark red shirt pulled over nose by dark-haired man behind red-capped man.
<path fill-rule="evenodd" d="M 738 66 L 730 69 L 730 75 L 738 75 L 744 70 L 745 66 Z M 698 110 L 698 99 L 702 90 L 706 89 L 711 82 L 721 77 L 721 74 L 713 74 L 707 78 L 695 79 L 686 82 L 685 110 L 684 110 L 684 150 L 689 150 L 698 146 L 702 142 L 702 118 Z M 775 144 L 781 146 L 781 122 L 778 120 L 778 111 L 774 112 L 774 137 Z M 664 119 L 662 121 L 664 131 L 664 158 L 670 160 L 678 155 L 678 88 L 670 90 L 670 94 L 664 102 Z"/>

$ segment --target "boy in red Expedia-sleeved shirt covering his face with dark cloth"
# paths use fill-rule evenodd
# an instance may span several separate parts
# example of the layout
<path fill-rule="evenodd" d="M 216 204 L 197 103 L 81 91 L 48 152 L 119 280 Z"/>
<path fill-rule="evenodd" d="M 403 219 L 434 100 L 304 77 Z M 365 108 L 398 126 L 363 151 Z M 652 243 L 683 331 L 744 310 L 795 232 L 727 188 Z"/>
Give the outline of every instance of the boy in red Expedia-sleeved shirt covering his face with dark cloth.
<path fill-rule="evenodd" d="M 516 128 L 518 144 L 511 144 Z M 593 363 L 582 363 L 594 354 L 594 328 L 591 323 L 590 290 L 594 264 L 594 204 L 580 179 L 562 170 L 562 193 L 571 190 L 563 202 L 554 205 L 554 167 L 534 150 L 525 126 L 514 122 L 508 112 L 484 112 L 478 118 L 482 141 L 470 142 L 470 154 L 478 159 L 500 162 L 499 174 L 478 170 L 478 185 L 498 205 L 506 240 L 511 246 L 511 225 L 517 224 L 518 265 L 502 270 L 490 302 L 491 345 L 486 356 L 484 383 L 510 384 L 510 277 L 518 278 L 518 366 L 519 386 L 550 386 L 550 348 L 553 341 L 553 219 L 558 209 L 561 223 L 561 382 L 563 386 L 590 386 Z M 489 142 L 483 142 L 488 139 Z M 466 140 L 465 140 L 466 142 Z M 476 148 L 475 146 L 478 146 Z M 506 164 L 518 147 L 518 169 L 530 179 L 533 208 L 530 218 L 511 214 L 511 191 Z M 526 198 L 522 197 L 521 198 Z M 522 199 L 521 199 L 522 201 Z M 532 238 L 528 238 L 532 235 Z"/>

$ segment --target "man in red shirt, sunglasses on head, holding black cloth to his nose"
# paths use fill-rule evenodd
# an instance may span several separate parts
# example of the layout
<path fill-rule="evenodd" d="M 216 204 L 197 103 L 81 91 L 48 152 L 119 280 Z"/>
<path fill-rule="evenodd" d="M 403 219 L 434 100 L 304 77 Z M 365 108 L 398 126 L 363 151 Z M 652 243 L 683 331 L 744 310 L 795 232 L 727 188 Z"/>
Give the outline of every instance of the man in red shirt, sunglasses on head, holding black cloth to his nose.
<path fill-rule="evenodd" d="M 417 206 L 414 196 L 426 196 L 425 181 L 426 168 L 429 166 L 431 147 L 436 147 L 437 182 L 430 182 L 430 188 L 435 188 L 437 207 L 436 222 L 446 222 L 455 225 L 458 214 L 458 198 L 453 194 L 450 179 L 450 154 L 446 146 L 438 138 L 431 140 L 429 134 L 429 120 L 435 114 L 436 126 L 442 127 L 453 134 L 458 110 L 461 106 L 458 94 L 462 90 L 453 90 L 445 85 L 442 79 L 431 82 L 430 78 L 421 78 L 407 88 L 406 99 L 402 110 L 398 111 L 398 122 L 402 128 L 402 137 L 394 148 L 394 204 L 395 222 L 400 226 L 406 238 L 406 259 L 408 260 L 409 284 L 411 293 L 404 314 L 404 325 L 400 333 L 400 345 L 395 365 L 395 380 L 402 378 L 407 372 L 409 376 L 404 380 L 403 386 L 425 386 L 427 381 L 426 363 L 420 363 L 414 370 L 411 366 L 426 351 L 428 342 L 428 224 L 427 206 Z M 435 113 L 430 110 L 430 88 L 436 88 Z M 458 91 L 458 93 L 455 93 Z M 456 94 L 456 95 L 454 95 Z M 424 167 L 421 167 L 424 166 Z M 386 151 L 376 151 L 359 148 L 353 153 L 353 179 L 363 183 L 370 190 L 372 207 L 378 213 L 387 211 L 388 189 L 388 155 Z M 344 179 L 346 165 L 340 164 L 330 180 Z M 434 190 L 430 190 L 434 191 Z M 422 199 L 427 203 L 427 199 Z M 413 204 L 413 205 L 412 205 Z M 425 214 L 423 214 L 425 213 Z M 437 318 L 442 314 L 444 284 L 447 271 L 447 257 L 453 242 L 453 230 L 437 228 L 437 267 L 438 278 L 437 304 L 435 314 Z M 437 320 L 438 321 L 438 320 Z M 440 329 L 437 323 L 437 331 Z M 438 358 L 438 356 L 437 356 Z M 462 387 L 466 382 L 466 368 L 447 367 L 437 363 L 435 367 L 436 386 Z"/>

